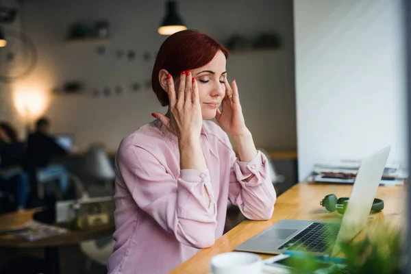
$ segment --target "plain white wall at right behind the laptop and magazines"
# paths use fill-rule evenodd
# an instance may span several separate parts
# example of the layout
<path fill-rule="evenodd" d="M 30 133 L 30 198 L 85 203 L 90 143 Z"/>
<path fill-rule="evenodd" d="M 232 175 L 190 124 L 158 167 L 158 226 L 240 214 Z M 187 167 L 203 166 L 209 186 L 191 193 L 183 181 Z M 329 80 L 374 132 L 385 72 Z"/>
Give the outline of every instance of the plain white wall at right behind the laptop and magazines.
<path fill-rule="evenodd" d="M 400 0 L 295 0 L 299 179 L 316 160 L 393 145 L 406 164 Z"/>

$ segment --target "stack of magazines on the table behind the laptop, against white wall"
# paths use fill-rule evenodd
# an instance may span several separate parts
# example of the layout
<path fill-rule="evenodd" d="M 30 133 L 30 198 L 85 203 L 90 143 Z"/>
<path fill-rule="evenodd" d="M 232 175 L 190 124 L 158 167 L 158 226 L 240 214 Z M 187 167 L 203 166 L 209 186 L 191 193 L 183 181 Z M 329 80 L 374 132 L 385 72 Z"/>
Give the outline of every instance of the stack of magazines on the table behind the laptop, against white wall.
<path fill-rule="evenodd" d="M 360 162 L 340 160 L 337 162 L 319 162 L 314 164 L 307 182 L 353 184 L 360 167 Z M 407 175 L 397 164 L 387 164 L 379 184 L 381 186 L 402 185 Z"/>

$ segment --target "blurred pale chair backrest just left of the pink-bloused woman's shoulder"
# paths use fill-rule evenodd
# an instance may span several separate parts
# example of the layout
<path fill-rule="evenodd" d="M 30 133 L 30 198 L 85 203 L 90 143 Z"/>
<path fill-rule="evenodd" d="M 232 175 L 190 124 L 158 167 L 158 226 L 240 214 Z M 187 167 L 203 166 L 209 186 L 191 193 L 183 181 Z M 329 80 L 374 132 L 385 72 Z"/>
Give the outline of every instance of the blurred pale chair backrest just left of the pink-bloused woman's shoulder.
<path fill-rule="evenodd" d="M 105 149 L 101 145 L 94 145 L 86 153 L 86 171 L 96 179 L 114 179 L 114 169 Z"/>

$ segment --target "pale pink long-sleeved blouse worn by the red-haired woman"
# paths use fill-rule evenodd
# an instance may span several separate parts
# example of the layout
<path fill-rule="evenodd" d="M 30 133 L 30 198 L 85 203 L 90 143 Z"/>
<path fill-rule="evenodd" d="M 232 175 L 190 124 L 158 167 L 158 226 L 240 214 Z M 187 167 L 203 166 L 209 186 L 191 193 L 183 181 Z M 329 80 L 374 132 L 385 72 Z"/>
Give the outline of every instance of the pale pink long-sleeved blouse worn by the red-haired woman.
<path fill-rule="evenodd" d="M 210 247 L 223 235 L 228 200 L 248 219 L 271 218 L 276 194 L 264 154 L 240 162 L 212 121 L 203 121 L 201 148 L 208 169 L 180 170 L 177 136 L 158 120 L 121 141 L 109 274 L 167 273 Z"/>

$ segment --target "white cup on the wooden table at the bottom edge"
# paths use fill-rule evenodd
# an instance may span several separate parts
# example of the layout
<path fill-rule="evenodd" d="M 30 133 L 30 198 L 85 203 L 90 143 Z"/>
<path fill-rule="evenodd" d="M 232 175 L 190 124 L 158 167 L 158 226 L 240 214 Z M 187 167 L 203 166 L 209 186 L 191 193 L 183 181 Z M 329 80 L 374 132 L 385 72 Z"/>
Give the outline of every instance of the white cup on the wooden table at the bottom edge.
<path fill-rule="evenodd" d="M 214 256 L 210 261 L 212 274 L 260 274 L 260 256 L 247 252 L 227 252 Z"/>

